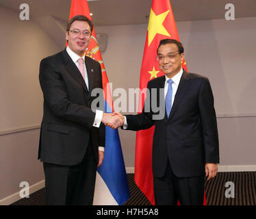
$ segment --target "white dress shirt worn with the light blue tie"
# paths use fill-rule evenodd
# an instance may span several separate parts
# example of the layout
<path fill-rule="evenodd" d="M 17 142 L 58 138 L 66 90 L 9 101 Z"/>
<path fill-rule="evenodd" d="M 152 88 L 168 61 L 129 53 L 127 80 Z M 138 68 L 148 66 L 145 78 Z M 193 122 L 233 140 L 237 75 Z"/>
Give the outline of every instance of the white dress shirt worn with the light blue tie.
<path fill-rule="evenodd" d="M 183 73 L 183 69 L 181 68 L 181 70 L 179 71 L 179 73 L 177 73 L 177 75 L 173 76 L 171 79 L 173 81 L 172 83 L 172 104 L 173 102 L 175 101 L 175 94 L 177 92 L 177 89 L 178 89 L 178 86 L 179 86 L 179 81 L 181 81 L 181 76 L 182 76 L 182 73 Z M 166 94 L 167 94 L 167 91 L 168 91 L 168 88 L 169 88 L 169 84 L 168 84 L 168 78 L 166 75 L 166 81 L 164 83 L 164 101 L 166 100 Z M 126 120 L 126 116 L 125 117 L 125 123 L 123 125 L 123 129 L 127 129 L 127 120 Z"/>

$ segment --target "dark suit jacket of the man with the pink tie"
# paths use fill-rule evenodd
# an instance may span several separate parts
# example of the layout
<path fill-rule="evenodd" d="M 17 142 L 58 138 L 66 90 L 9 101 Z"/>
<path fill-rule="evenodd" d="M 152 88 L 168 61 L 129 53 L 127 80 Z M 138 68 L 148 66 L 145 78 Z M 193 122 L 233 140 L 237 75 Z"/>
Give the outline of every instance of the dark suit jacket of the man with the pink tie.
<path fill-rule="evenodd" d="M 44 115 L 38 159 L 42 162 L 66 166 L 79 164 L 88 144 L 93 145 L 95 158 L 99 161 L 98 147 L 105 146 L 105 126 L 92 126 L 95 113 L 90 106 L 96 98 L 91 96 L 92 89 L 103 88 L 101 66 L 90 57 L 85 57 L 85 62 L 89 90 L 66 49 L 40 63 Z"/>

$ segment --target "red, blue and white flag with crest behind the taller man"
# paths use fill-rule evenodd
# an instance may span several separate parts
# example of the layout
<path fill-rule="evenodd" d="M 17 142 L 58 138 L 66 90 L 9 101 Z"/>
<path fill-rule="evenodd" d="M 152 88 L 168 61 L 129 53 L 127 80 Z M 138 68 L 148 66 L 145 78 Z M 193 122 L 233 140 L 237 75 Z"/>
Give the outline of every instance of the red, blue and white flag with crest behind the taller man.
<path fill-rule="evenodd" d="M 72 0 L 69 19 L 76 15 L 87 16 L 92 21 L 87 0 Z M 110 85 L 94 29 L 86 55 L 101 64 L 105 112 L 111 113 L 113 112 L 113 101 Z M 118 130 L 106 127 L 104 159 L 103 164 L 97 169 L 93 204 L 123 205 L 129 196 L 129 186 Z"/>

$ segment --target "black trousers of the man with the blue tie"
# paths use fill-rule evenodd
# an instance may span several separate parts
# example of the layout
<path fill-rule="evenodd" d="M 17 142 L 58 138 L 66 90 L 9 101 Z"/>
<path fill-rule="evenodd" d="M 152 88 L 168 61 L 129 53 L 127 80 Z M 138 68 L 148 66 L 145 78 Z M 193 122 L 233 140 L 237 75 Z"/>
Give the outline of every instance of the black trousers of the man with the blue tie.
<path fill-rule="evenodd" d="M 200 177 L 176 177 L 168 162 L 163 177 L 154 177 L 156 205 L 203 205 L 205 175 Z"/>

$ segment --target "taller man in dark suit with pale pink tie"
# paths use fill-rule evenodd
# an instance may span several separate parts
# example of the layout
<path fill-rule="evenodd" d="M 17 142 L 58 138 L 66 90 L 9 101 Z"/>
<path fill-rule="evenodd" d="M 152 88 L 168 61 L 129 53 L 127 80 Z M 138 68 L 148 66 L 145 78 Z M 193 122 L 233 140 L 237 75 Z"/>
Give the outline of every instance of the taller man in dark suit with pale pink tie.
<path fill-rule="evenodd" d="M 105 125 L 99 62 L 85 56 L 92 22 L 75 16 L 68 22 L 68 47 L 40 63 L 44 115 L 38 159 L 43 162 L 48 205 L 92 205 L 97 166 L 103 162 Z M 99 98 L 99 107 L 91 109 Z M 112 117 L 113 119 L 114 117 Z M 101 123 L 102 122 L 102 123 Z"/>

